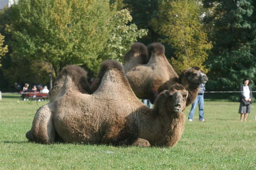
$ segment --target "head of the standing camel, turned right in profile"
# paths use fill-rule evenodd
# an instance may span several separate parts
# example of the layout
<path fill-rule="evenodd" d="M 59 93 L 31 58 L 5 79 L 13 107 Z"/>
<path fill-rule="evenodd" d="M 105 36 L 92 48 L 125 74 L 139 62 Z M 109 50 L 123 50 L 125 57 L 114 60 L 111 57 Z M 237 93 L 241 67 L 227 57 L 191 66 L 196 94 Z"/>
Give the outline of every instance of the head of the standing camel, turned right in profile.
<path fill-rule="evenodd" d="M 189 82 L 192 83 L 206 83 L 208 81 L 207 76 L 200 70 L 200 67 L 194 66 L 188 68 L 183 74 L 187 77 Z"/>

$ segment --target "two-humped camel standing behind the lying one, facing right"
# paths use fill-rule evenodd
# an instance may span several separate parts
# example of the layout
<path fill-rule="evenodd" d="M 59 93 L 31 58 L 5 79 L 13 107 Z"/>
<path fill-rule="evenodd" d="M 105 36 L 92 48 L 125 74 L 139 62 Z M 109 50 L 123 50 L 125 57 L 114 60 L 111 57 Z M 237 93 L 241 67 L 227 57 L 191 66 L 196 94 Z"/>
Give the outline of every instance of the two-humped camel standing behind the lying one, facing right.
<path fill-rule="evenodd" d="M 143 49 L 144 45 L 141 43 L 137 45 L 141 47 L 136 47 L 134 50 L 132 45 L 125 54 L 123 66 L 135 95 L 140 99 L 150 99 L 153 103 L 160 92 L 169 89 L 175 83 L 180 83 L 189 92 L 187 106 L 193 103 L 197 97 L 200 83 L 208 81 L 207 76 L 200 71 L 200 68 L 196 66 L 189 68 L 178 76 L 166 59 L 165 47 L 161 43 L 149 45 L 148 55 L 150 59 L 147 64 L 141 64 L 141 62 L 137 62 L 137 58 L 144 57 L 146 61 L 148 57 L 138 55 L 144 53 L 144 50 L 138 51 L 138 49 Z"/>

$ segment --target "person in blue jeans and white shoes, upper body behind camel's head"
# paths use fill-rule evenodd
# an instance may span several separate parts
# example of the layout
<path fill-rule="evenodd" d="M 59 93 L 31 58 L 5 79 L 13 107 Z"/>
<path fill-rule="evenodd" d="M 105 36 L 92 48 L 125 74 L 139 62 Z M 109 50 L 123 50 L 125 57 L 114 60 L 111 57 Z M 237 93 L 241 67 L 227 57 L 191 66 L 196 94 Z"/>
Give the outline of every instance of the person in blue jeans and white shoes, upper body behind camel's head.
<path fill-rule="evenodd" d="M 190 109 L 190 112 L 189 112 L 189 115 L 188 115 L 188 120 L 190 122 L 193 121 L 193 116 L 194 116 L 194 113 L 195 113 L 197 103 L 198 103 L 198 106 L 199 106 L 199 120 L 203 121 L 203 122 L 205 121 L 205 119 L 204 119 L 204 91 L 205 91 L 205 84 L 201 83 L 200 84 L 200 90 L 197 94 L 197 98 L 195 99 L 194 103 L 192 103 L 192 106 L 191 106 L 191 109 Z"/>

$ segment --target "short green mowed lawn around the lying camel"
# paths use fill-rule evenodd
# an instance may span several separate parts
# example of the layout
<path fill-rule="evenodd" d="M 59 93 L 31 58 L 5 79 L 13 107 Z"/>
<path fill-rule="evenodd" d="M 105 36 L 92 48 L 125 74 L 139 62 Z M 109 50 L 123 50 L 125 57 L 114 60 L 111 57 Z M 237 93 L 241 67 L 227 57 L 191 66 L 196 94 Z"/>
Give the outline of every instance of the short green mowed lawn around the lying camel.
<path fill-rule="evenodd" d="M 256 169 L 256 103 L 240 122 L 238 102 L 205 102 L 206 122 L 196 108 L 176 146 L 141 148 L 29 143 L 34 114 L 48 101 L 17 96 L 0 100 L 0 169 Z"/>

